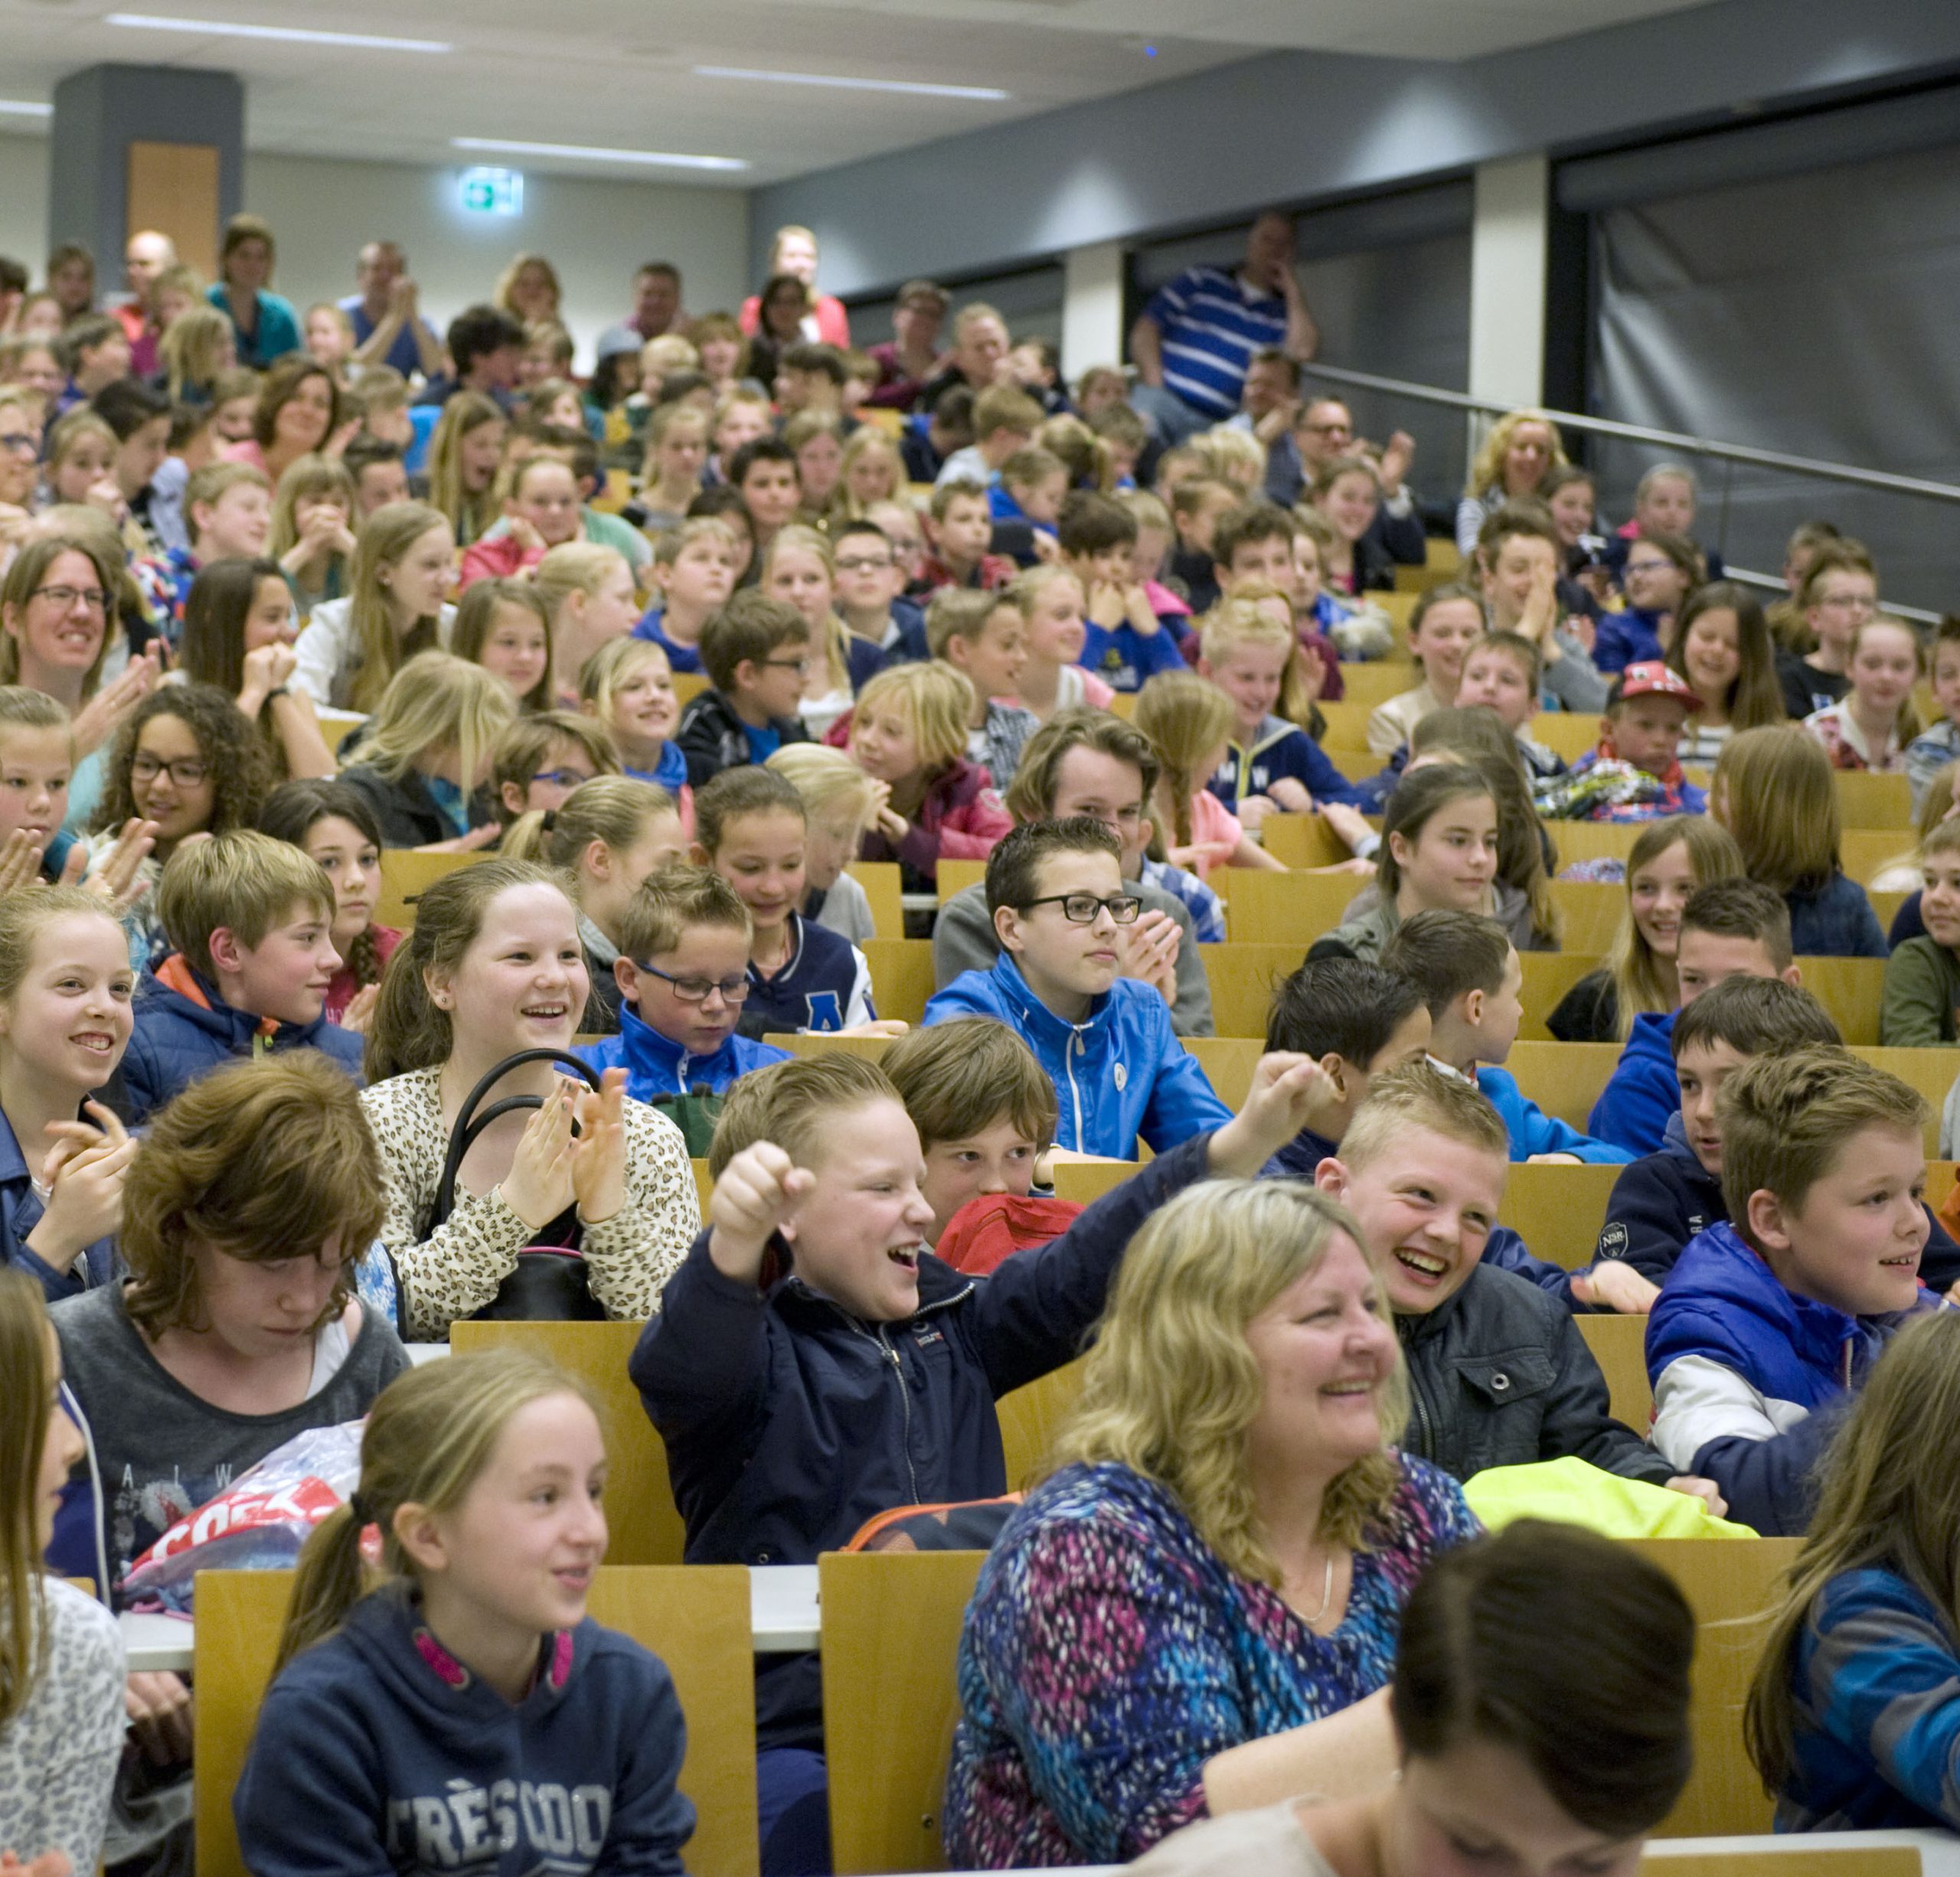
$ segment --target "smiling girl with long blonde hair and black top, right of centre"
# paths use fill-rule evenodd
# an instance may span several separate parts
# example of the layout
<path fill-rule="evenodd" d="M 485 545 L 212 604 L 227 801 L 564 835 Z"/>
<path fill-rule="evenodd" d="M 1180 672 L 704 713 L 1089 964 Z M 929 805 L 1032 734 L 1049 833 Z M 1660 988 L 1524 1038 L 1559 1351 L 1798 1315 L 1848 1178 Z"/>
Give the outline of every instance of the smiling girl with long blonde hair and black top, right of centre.
<path fill-rule="evenodd" d="M 1627 911 L 1605 964 L 1558 999 L 1544 1027 L 1560 1042 L 1625 1042 L 1642 1011 L 1678 1009 L 1682 907 L 1695 888 L 1740 874 L 1742 852 L 1721 823 L 1705 815 L 1648 821 L 1627 854 Z"/>

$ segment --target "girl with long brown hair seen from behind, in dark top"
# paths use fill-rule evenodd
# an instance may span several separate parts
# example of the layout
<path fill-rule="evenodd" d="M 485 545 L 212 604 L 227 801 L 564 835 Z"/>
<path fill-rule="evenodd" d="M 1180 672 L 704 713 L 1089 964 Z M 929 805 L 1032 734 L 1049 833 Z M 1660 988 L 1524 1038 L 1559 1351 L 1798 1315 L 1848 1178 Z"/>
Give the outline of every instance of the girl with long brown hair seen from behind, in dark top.
<path fill-rule="evenodd" d="M 1731 737 L 1709 784 L 1709 813 L 1735 835 L 1742 872 L 1784 895 L 1797 956 L 1886 956 L 1872 901 L 1838 858 L 1844 823 L 1831 758 L 1801 723 Z"/>

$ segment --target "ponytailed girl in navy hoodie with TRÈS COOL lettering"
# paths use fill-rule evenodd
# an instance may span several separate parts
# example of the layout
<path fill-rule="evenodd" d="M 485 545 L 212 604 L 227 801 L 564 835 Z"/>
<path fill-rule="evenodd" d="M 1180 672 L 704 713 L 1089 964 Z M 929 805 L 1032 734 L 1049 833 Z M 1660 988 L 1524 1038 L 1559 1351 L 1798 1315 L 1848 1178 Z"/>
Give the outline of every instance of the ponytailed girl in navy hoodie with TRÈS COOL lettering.
<path fill-rule="evenodd" d="M 592 1403 L 537 1356 L 453 1356 L 380 1395 L 361 1485 L 300 1554 L 233 1793 L 257 1877 L 682 1869 L 672 1677 L 586 1614 L 604 1485 Z"/>

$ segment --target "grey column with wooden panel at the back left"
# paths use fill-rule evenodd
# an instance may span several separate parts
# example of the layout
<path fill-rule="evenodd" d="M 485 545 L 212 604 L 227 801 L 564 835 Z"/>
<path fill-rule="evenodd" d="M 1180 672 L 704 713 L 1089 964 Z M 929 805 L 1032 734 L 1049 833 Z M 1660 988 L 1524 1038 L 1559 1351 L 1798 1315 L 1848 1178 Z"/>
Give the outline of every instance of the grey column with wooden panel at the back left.
<path fill-rule="evenodd" d="M 84 241 L 98 278 L 122 278 L 137 227 L 216 272 L 218 231 L 245 200 L 245 86 L 233 72 L 90 65 L 55 86 L 47 239 Z"/>

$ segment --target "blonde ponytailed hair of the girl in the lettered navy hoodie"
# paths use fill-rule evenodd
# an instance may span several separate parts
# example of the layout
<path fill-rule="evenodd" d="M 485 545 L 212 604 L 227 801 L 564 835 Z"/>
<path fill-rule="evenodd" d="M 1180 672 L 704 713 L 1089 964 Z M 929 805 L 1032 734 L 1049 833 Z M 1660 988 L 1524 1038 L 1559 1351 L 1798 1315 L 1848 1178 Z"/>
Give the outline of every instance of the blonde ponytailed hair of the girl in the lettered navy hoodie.
<path fill-rule="evenodd" d="M 531 1350 L 480 1350 L 396 1375 L 374 1397 L 361 1432 L 361 1483 L 347 1505 L 314 1526 L 300 1552 L 272 1673 L 325 1642 L 370 1589 L 412 1583 L 416 1564 L 394 1528 L 402 1507 L 457 1511 L 510 1422 L 555 1395 L 572 1395 L 598 1417 L 584 1383 Z M 380 1528 L 378 1583 L 361 1556 L 370 1522 Z"/>

